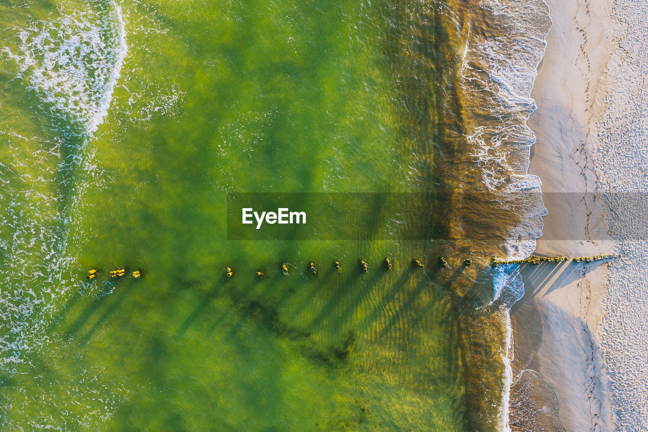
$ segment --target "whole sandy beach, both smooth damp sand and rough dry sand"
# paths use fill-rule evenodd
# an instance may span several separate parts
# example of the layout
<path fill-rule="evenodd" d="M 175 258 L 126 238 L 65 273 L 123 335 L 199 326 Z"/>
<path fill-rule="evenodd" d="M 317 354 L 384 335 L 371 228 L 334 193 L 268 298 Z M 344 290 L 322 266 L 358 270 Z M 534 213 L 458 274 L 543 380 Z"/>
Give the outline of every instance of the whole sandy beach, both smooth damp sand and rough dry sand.
<path fill-rule="evenodd" d="M 637 175 L 641 165 L 633 162 L 643 137 L 640 132 L 624 134 L 618 124 L 632 130 L 641 123 L 640 117 L 622 111 L 627 102 L 644 99 L 637 85 L 642 70 L 627 60 L 640 59 L 640 51 L 628 46 L 638 47 L 642 38 L 624 34 L 637 31 L 633 27 L 648 34 L 642 21 L 628 18 L 645 10 L 630 7 L 631 2 L 623 2 L 624 8 L 606 0 L 547 3 L 553 27 L 531 93 L 538 109 L 529 119 L 537 138 L 529 173 L 542 180 L 549 212 L 536 254 L 624 255 L 614 262 L 543 263 L 520 269 L 526 293 L 511 311 L 513 339 L 519 344 L 511 427 L 533 430 L 529 424 L 516 426 L 515 410 L 529 416 L 537 409 L 544 413 L 537 426 L 550 430 L 640 430 L 645 409 L 632 406 L 646 406 L 646 357 L 645 347 L 637 343 L 640 337 L 632 333 L 646 322 L 640 307 L 646 294 L 642 278 L 632 274 L 645 272 L 629 272 L 627 267 L 645 267 L 640 259 L 645 246 L 624 246 L 614 227 L 608 235 L 610 212 L 596 193 L 645 190 L 637 180 L 643 178 Z M 632 297 L 634 305 L 627 301 Z M 638 328 L 619 326 L 627 318 Z M 632 355 L 623 355 L 623 350 Z M 530 394 L 526 384 L 531 382 L 544 392 Z"/>

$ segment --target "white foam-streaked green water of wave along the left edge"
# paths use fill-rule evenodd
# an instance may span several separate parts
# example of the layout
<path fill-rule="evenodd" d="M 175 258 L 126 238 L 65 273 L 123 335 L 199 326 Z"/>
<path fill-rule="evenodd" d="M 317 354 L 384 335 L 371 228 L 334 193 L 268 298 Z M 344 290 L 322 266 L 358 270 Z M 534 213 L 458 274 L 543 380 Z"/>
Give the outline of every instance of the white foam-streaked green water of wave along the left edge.
<path fill-rule="evenodd" d="M 0 230 L 0 263 L 6 270 L 0 289 L 0 321 L 5 323 L 0 332 L 0 379 L 32 374 L 40 352 L 65 357 L 67 343 L 51 340 L 51 326 L 60 318 L 57 311 L 75 296 L 93 294 L 85 284 L 74 282 L 76 257 L 69 251 L 68 238 L 73 204 L 68 198 L 86 186 L 74 171 L 93 169 L 86 144 L 108 114 L 126 57 L 126 33 L 121 8 L 112 1 L 85 4 L 73 12 L 64 2 L 57 7 L 56 18 L 6 29 L 15 37 L 0 49 L 12 85 L 28 90 L 17 104 L 20 110 L 3 117 L 0 130 L 12 154 L 11 165 L 0 163 L 0 205 L 5 209 L 0 215 L 5 228 Z M 43 110 L 63 129 L 43 121 Z M 76 374 L 78 385 L 65 389 L 66 402 L 89 407 L 87 418 L 74 421 L 97 429 L 91 414 L 107 418 L 122 389 L 102 396 L 97 389 L 107 384 L 98 378 L 100 371 Z M 34 400 L 40 406 L 60 403 L 63 390 L 56 389 L 71 378 L 57 374 L 38 396 L 17 385 L 18 396 L 3 400 L 1 411 Z M 84 387 L 87 383 L 95 388 Z M 45 414 L 30 419 L 34 429 L 50 424 Z M 10 421 L 5 426 L 21 428 Z"/>

